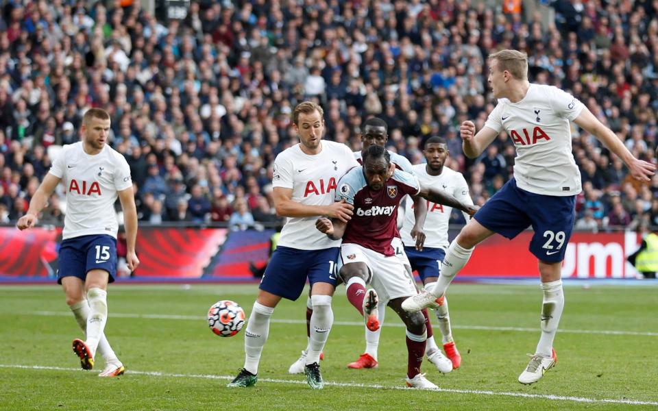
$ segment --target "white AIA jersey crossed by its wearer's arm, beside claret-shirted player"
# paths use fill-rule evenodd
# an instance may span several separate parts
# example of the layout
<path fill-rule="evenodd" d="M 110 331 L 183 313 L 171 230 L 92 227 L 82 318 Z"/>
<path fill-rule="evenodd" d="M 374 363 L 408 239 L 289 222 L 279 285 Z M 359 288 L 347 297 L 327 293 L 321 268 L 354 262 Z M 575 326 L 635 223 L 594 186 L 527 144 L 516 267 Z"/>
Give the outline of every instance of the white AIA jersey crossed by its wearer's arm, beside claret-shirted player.
<path fill-rule="evenodd" d="M 344 144 L 322 140 L 322 151 L 308 155 L 298 143 L 276 156 L 272 186 L 292 188 L 297 203 L 328 206 L 334 202 L 338 180 L 354 166 L 358 163 Z M 341 240 L 330 240 L 315 228 L 317 217 L 288 217 L 278 245 L 302 250 L 340 247 Z"/>

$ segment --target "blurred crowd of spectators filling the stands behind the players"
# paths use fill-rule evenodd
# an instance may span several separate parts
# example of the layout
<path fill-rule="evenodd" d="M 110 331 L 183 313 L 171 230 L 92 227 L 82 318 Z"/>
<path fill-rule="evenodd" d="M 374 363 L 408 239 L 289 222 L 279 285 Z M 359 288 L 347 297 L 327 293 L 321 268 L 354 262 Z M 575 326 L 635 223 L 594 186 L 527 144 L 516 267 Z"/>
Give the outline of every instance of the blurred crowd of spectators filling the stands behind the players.
<path fill-rule="evenodd" d="M 0 0 L 0 219 L 27 210 L 58 147 L 99 107 L 141 221 L 276 224 L 273 159 L 297 142 L 291 111 L 306 99 L 323 105 L 326 138 L 354 150 L 368 116 L 413 163 L 424 140 L 443 136 L 448 166 L 484 203 L 511 177 L 514 147 L 501 134 L 469 160 L 458 130 L 485 123 L 496 104 L 486 57 L 508 48 L 528 53 L 531 82 L 572 92 L 654 160 L 658 2 L 542 2 L 555 21 L 520 3 L 193 0 L 184 20 L 165 21 L 130 0 Z M 658 177 L 640 184 L 596 138 L 572 132 L 584 187 L 576 227 L 658 225 Z M 62 221 L 63 196 L 44 221 Z"/>

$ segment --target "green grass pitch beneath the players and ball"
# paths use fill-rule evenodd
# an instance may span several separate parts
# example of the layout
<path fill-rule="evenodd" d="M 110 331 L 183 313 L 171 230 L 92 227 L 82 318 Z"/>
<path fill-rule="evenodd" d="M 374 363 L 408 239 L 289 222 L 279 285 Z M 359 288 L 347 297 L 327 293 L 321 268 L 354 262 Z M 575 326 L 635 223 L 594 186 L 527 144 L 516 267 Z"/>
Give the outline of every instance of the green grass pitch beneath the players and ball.
<path fill-rule="evenodd" d="M 104 366 L 100 356 L 94 371 L 80 370 L 71 341 L 82 338 L 82 332 L 58 286 L 3 286 L 0 409 L 655 408 L 657 291 L 655 286 L 565 286 L 557 366 L 537 384 L 523 386 L 517 377 L 539 338 L 541 290 L 455 284 L 448 299 L 462 366 L 441 375 L 425 361 L 426 376 L 443 390 L 433 392 L 400 389 L 406 346 L 404 328 L 392 310 L 387 310 L 382 330 L 379 368 L 347 369 L 365 342 L 362 319 L 345 299 L 343 287 L 334 297 L 336 323 L 321 362 L 328 384 L 314 391 L 304 375 L 287 373 L 306 347 L 305 295 L 294 303 L 282 301 L 274 311 L 258 384 L 228 389 L 226 384 L 243 365 L 244 329 L 232 338 L 219 338 L 208 329 L 206 312 L 220 299 L 232 299 L 249 314 L 254 285 L 110 286 L 106 334 L 127 369 L 112 379 L 96 376 Z M 435 332 L 441 345 L 438 327 Z M 646 403 L 601 401 L 605 399 Z"/>

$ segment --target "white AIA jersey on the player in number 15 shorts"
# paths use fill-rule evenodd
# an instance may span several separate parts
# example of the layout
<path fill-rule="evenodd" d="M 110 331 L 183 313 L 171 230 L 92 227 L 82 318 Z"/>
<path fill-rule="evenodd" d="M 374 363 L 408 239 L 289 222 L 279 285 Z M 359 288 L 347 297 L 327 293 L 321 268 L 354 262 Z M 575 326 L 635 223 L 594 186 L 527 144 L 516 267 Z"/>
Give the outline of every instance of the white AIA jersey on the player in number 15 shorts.
<path fill-rule="evenodd" d="M 64 146 L 53 160 L 50 173 L 62 179 L 66 190 L 64 240 L 91 234 L 117 238 L 117 191 L 132 187 L 130 166 L 123 155 L 108 145 L 100 153 L 89 155 L 80 141 Z"/>

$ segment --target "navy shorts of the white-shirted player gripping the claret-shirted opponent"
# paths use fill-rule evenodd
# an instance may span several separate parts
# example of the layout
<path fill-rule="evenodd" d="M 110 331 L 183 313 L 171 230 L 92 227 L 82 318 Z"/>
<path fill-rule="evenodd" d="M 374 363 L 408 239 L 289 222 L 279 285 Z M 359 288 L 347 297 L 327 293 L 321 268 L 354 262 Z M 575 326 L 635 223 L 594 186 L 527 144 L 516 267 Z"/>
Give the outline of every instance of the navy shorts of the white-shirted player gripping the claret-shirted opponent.
<path fill-rule="evenodd" d="M 307 277 L 311 286 L 326 282 L 335 287 L 338 277 L 336 262 L 340 251 L 339 247 L 300 250 L 278 246 L 267 264 L 259 288 L 295 301 L 302 295 Z"/>

